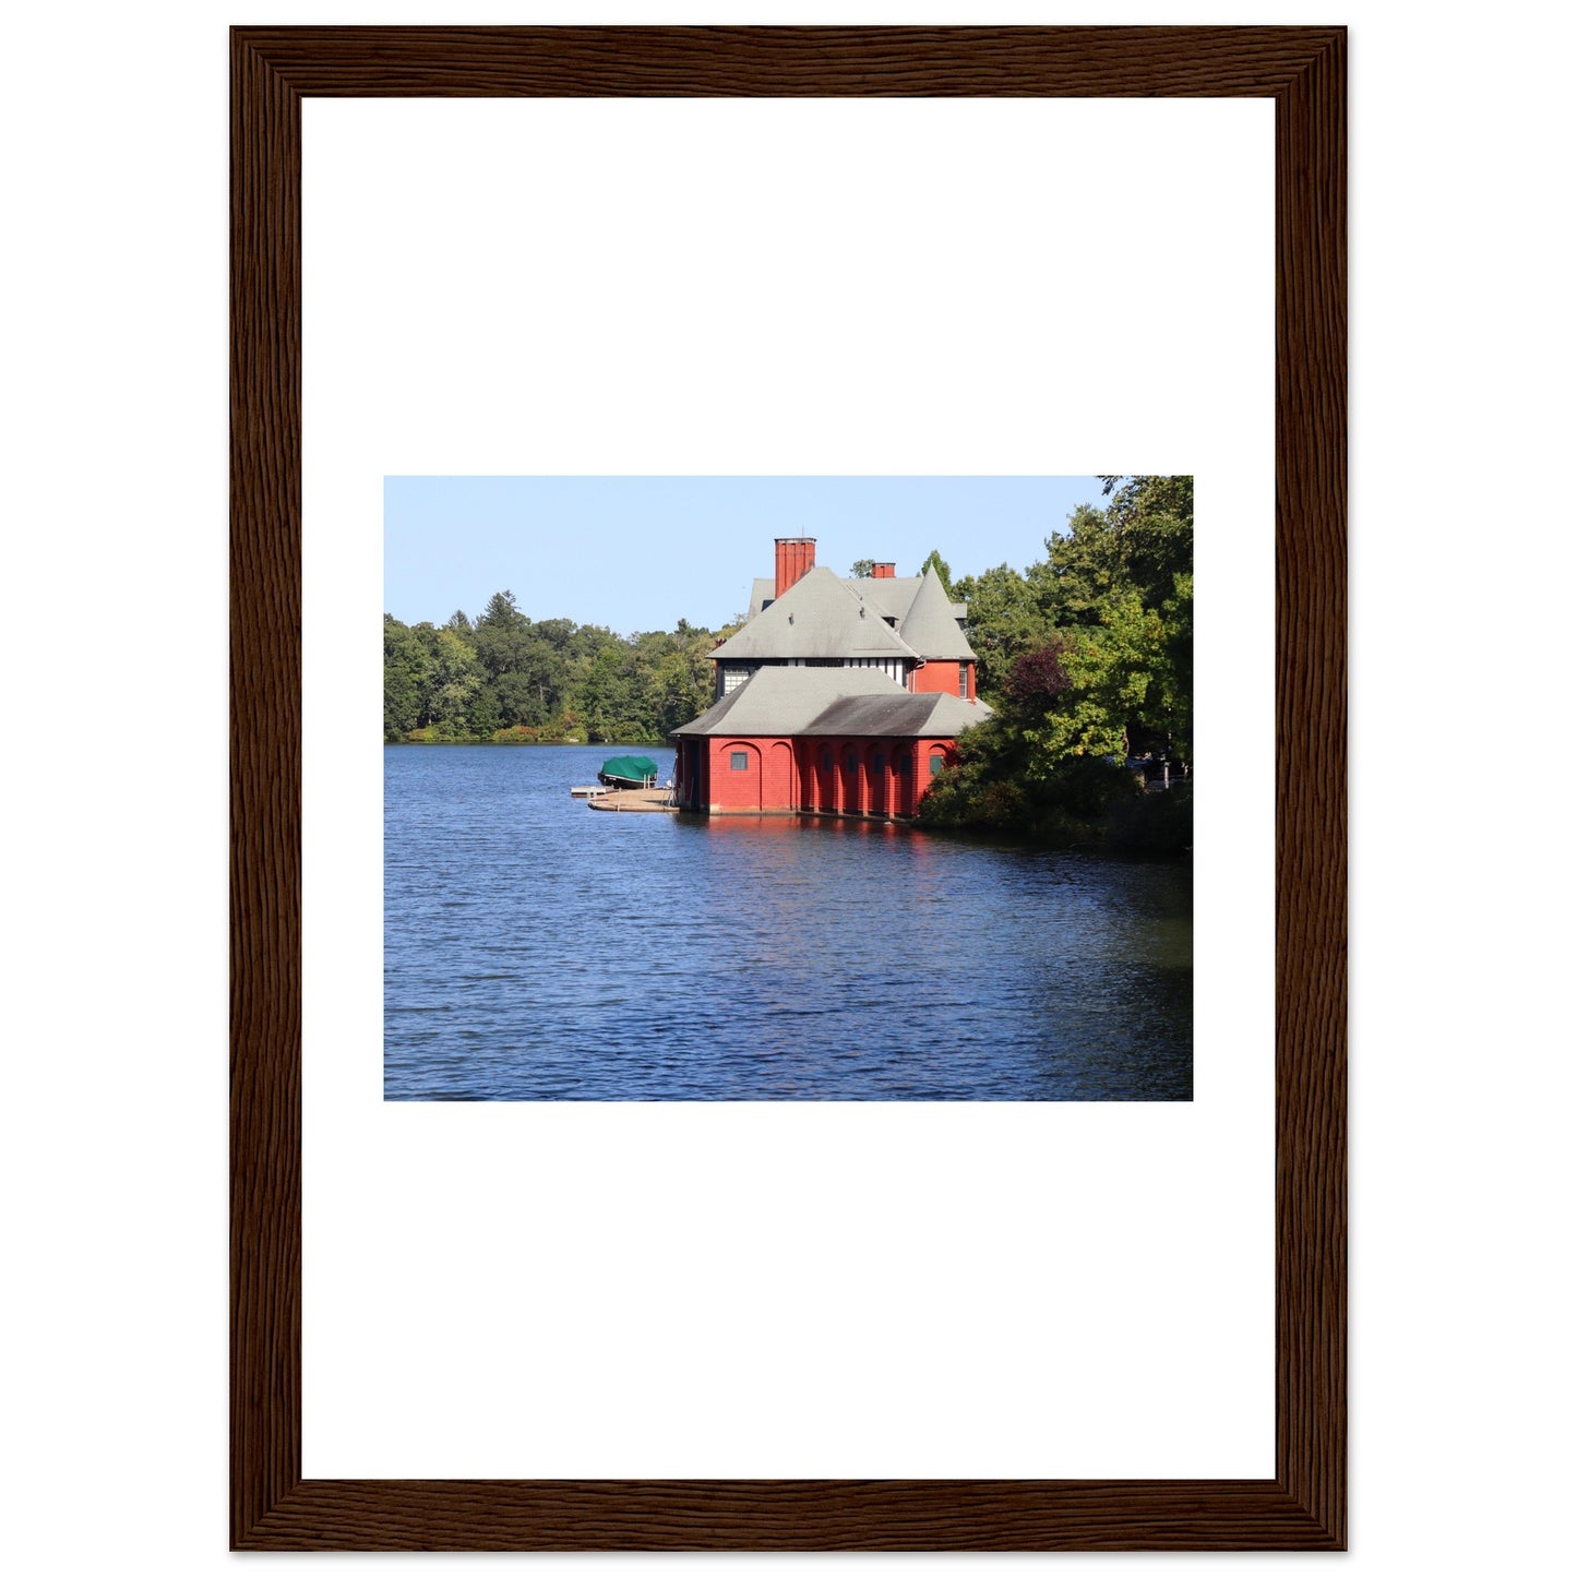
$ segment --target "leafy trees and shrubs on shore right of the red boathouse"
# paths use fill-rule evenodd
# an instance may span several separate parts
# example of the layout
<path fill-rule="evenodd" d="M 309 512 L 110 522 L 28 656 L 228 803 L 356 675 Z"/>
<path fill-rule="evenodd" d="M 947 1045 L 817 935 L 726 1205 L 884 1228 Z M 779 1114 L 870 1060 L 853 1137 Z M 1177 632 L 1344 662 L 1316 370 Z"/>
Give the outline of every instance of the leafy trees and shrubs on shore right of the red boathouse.
<path fill-rule="evenodd" d="M 1101 481 L 1109 503 L 1076 509 L 1044 558 L 953 583 L 995 716 L 960 738 L 923 822 L 1192 844 L 1186 785 L 1143 803 L 1131 763 L 1181 776 L 1192 754 L 1194 478 Z"/>

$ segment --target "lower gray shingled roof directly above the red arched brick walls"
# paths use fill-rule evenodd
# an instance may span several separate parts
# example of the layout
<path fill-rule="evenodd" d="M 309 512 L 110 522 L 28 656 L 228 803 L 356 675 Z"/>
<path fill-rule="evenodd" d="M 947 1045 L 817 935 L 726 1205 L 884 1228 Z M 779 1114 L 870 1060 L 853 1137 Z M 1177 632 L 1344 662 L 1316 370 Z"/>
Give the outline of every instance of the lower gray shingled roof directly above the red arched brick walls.
<path fill-rule="evenodd" d="M 957 735 L 990 716 L 957 695 L 912 695 L 880 669 L 757 669 L 681 735 Z"/>

